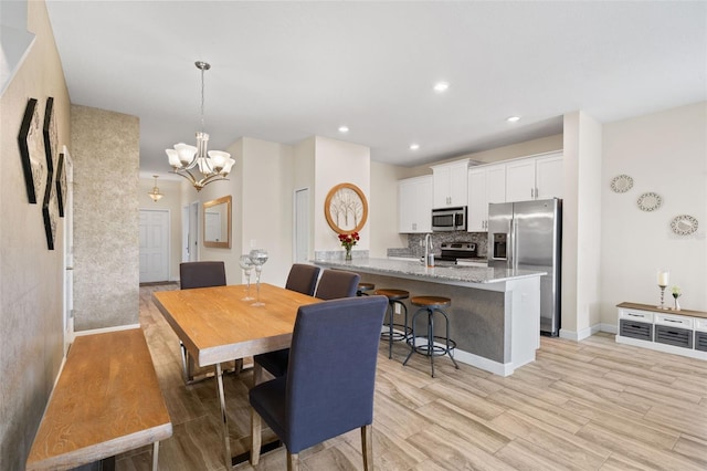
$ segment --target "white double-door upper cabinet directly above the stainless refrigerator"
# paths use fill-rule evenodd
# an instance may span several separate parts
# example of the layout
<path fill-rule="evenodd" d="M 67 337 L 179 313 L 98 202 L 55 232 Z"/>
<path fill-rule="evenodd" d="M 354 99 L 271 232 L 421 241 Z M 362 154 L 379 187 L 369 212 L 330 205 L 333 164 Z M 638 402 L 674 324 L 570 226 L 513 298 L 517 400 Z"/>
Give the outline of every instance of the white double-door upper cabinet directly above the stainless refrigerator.
<path fill-rule="evenodd" d="M 562 197 L 562 154 L 506 164 L 506 201 Z"/>

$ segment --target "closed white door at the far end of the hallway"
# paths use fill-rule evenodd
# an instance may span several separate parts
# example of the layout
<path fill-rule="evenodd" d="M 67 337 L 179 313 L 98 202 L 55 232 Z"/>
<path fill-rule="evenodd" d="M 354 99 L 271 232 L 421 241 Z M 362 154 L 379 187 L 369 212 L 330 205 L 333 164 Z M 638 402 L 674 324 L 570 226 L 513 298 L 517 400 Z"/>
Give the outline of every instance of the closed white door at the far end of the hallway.
<path fill-rule="evenodd" d="M 140 283 L 169 280 L 169 211 L 140 210 Z"/>

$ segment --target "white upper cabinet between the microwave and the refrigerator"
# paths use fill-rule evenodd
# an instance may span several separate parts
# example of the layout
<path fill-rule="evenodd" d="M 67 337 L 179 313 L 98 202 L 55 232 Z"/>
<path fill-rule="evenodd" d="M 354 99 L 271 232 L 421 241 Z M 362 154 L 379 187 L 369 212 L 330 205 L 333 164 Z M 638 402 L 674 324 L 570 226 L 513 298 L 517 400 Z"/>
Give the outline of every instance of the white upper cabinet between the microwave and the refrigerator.
<path fill-rule="evenodd" d="M 506 166 L 488 165 L 468 170 L 468 232 L 488 230 L 488 203 L 506 202 Z"/>

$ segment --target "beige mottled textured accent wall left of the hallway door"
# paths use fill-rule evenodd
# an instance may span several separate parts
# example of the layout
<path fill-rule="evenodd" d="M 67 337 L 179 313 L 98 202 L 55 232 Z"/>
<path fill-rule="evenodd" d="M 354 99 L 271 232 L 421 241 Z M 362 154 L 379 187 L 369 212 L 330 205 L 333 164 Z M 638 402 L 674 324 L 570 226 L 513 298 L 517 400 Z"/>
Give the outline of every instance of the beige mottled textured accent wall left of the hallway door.
<path fill-rule="evenodd" d="M 139 119 L 71 107 L 74 328 L 138 323 Z"/>

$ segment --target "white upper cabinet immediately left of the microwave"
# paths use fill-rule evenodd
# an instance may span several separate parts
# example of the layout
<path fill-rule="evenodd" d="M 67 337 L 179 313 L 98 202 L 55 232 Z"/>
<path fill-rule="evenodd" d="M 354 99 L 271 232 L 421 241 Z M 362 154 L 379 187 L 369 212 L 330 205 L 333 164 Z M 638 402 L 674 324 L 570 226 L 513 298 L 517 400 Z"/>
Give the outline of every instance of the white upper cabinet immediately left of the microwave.
<path fill-rule="evenodd" d="M 398 232 L 432 232 L 432 176 L 398 180 Z"/>

